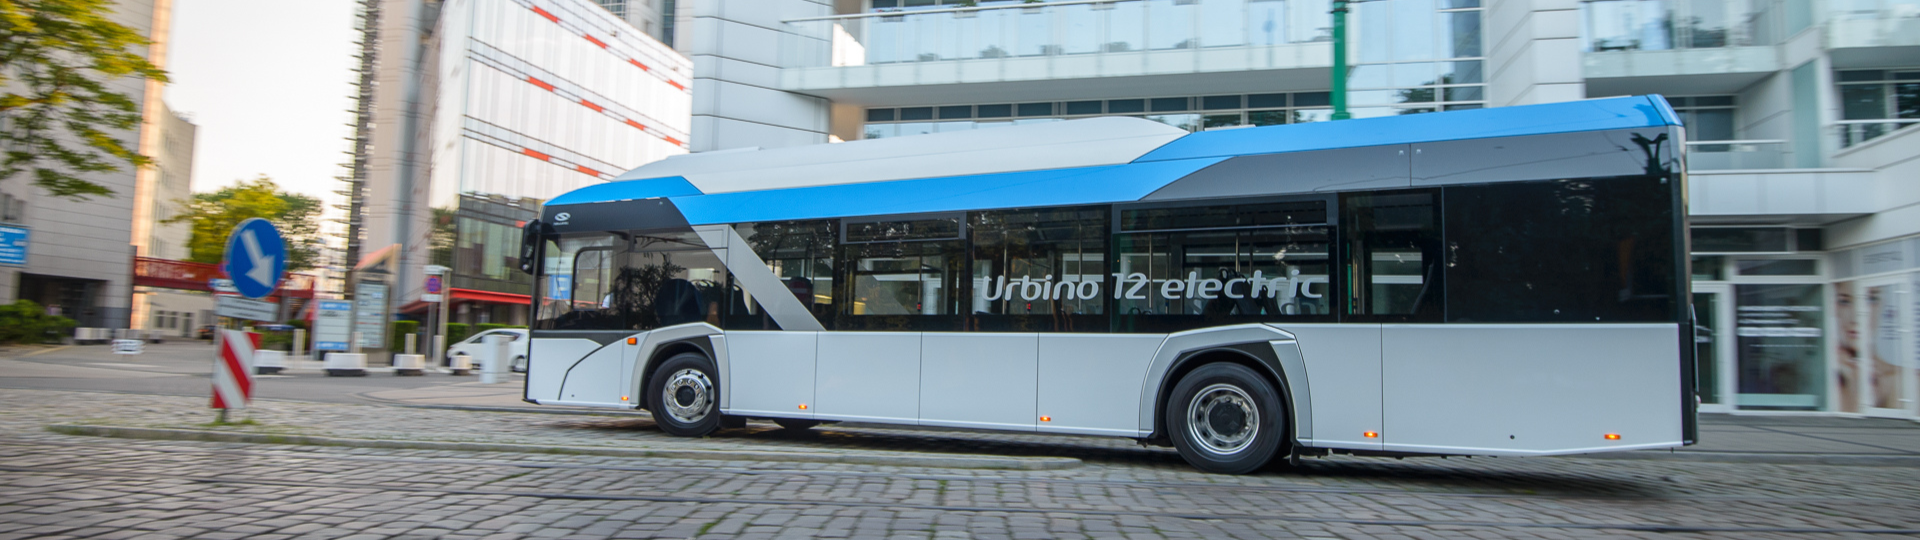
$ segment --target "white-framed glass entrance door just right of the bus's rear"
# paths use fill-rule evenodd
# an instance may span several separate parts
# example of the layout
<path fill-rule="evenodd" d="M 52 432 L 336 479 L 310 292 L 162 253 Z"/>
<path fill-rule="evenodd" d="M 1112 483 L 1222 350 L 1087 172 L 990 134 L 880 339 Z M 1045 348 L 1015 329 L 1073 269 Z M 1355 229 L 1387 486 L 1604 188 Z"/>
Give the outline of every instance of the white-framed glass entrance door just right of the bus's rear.
<path fill-rule="evenodd" d="M 1738 284 L 1741 409 L 1812 411 L 1826 402 L 1820 284 Z"/>

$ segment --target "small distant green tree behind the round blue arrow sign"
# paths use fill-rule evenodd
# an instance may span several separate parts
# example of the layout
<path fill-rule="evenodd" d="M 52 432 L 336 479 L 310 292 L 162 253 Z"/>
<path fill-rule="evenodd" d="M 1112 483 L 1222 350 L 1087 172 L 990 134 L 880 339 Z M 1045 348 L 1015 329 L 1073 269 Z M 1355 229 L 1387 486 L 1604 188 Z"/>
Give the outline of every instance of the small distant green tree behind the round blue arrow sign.
<path fill-rule="evenodd" d="M 0 0 L 4 2 L 4 0 Z M 179 202 L 184 211 L 161 223 L 192 223 L 194 236 L 186 240 L 188 261 L 219 263 L 227 254 L 227 236 L 240 221 L 261 217 L 273 221 L 286 238 L 286 269 L 301 271 L 319 265 L 321 258 L 321 200 L 313 196 L 280 190 L 273 179 L 261 175 L 225 186 L 217 192 L 200 192 L 192 200 Z"/>

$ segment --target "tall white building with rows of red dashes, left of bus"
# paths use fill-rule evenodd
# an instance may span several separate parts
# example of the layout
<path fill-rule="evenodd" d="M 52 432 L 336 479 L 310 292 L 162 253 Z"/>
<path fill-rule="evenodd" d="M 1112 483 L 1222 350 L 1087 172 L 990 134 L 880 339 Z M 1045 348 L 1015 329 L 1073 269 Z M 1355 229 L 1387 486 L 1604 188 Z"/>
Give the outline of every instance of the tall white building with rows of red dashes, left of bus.
<path fill-rule="evenodd" d="M 424 321 L 422 271 L 444 265 L 449 321 L 524 325 L 520 227 L 551 196 L 685 154 L 691 63 L 589 0 L 361 6 L 346 265 L 399 248 L 348 296 L 392 290 Z"/>

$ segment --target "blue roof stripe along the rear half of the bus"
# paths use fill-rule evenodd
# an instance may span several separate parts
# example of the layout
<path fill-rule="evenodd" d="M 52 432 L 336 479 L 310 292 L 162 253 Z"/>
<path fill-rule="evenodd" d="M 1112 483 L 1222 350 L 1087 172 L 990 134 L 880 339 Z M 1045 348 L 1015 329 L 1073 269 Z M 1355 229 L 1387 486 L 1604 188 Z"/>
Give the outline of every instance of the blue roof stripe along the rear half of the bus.
<path fill-rule="evenodd" d="M 1680 125 L 1667 98 L 1632 96 L 1202 131 L 1154 148 L 1135 163 L 1659 125 Z"/>

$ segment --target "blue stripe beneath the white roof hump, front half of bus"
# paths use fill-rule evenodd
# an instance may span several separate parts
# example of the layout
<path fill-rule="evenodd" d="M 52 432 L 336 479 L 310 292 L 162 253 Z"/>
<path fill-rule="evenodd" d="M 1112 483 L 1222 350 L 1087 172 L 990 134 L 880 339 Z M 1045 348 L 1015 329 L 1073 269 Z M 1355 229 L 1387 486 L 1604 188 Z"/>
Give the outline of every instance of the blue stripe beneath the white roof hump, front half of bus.
<path fill-rule="evenodd" d="M 689 225 L 1110 204 L 1140 200 L 1221 160 L 1225 158 L 724 192 L 674 196 L 672 202 Z"/>

